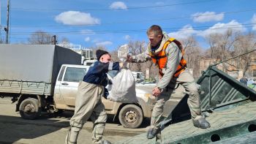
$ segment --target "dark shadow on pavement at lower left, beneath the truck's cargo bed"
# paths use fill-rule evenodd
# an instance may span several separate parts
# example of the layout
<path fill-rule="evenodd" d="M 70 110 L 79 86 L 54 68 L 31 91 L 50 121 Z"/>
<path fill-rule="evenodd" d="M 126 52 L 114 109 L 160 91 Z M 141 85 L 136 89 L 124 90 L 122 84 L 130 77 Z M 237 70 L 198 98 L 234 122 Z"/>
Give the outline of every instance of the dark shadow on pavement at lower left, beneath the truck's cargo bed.
<path fill-rule="evenodd" d="M 0 143 L 15 143 L 20 139 L 34 139 L 68 126 L 67 121 L 25 120 L 20 117 L 0 115 Z"/>

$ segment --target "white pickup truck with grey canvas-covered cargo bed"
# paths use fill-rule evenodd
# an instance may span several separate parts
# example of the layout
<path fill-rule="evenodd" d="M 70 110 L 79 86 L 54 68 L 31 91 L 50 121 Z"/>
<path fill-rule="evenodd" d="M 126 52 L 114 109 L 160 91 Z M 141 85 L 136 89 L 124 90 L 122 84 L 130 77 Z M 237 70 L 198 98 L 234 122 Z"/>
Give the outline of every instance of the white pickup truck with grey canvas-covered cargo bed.
<path fill-rule="evenodd" d="M 89 69 L 79 65 L 78 53 L 56 45 L 0 45 L 0 55 L 0 96 L 12 96 L 22 118 L 35 119 L 42 111 L 75 110 L 78 83 Z M 114 75 L 116 72 L 108 74 L 110 80 Z M 136 86 L 138 103 L 105 98 L 102 102 L 124 127 L 137 128 L 143 118 L 151 117 L 151 89 Z"/>

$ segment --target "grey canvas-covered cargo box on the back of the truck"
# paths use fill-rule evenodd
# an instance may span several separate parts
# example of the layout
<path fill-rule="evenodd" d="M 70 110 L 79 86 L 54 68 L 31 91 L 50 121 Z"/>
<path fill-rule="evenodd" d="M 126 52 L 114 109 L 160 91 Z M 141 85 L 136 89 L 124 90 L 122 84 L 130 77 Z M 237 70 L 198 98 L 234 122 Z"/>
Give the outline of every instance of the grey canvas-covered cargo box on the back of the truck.
<path fill-rule="evenodd" d="M 61 65 L 80 58 L 57 45 L 0 45 L 0 92 L 53 95 Z"/>

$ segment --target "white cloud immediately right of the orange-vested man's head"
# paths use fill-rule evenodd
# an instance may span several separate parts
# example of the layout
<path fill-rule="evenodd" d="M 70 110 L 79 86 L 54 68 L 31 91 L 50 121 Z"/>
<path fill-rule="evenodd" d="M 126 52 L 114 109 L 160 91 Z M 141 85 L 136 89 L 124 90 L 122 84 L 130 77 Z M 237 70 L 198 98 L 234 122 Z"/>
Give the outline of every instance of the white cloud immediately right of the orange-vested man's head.
<path fill-rule="evenodd" d="M 197 31 L 195 31 L 192 26 L 187 25 L 179 31 L 169 33 L 168 36 L 175 37 L 177 39 L 186 39 L 194 34 L 197 34 Z"/>

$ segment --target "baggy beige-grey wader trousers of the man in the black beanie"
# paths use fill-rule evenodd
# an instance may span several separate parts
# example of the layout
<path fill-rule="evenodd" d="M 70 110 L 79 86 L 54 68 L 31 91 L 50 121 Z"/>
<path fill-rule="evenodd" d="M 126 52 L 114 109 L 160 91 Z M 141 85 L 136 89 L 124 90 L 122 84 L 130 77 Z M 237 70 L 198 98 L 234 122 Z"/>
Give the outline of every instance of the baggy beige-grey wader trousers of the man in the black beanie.
<path fill-rule="evenodd" d="M 107 121 L 105 106 L 102 104 L 104 87 L 81 81 L 75 99 L 75 113 L 69 121 L 71 128 L 65 143 L 77 143 L 78 134 L 83 125 L 91 118 L 93 122 L 92 142 L 103 143 L 103 131 Z M 85 142 L 86 143 L 86 142 Z"/>

